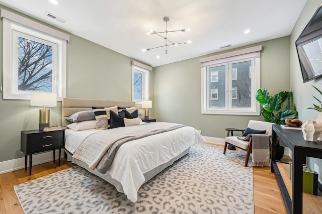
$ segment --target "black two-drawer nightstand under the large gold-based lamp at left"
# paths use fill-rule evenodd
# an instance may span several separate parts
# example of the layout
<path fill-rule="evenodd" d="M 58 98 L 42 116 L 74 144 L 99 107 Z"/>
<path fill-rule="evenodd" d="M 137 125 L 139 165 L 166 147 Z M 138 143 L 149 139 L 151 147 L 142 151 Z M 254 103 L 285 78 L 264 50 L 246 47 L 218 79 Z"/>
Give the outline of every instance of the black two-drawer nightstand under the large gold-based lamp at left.
<path fill-rule="evenodd" d="M 58 166 L 60 166 L 60 151 L 64 147 L 64 130 L 43 132 L 39 130 L 21 131 L 21 151 L 25 154 L 25 170 L 29 155 L 29 175 L 31 175 L 32 154 L 59 149 Z"/>

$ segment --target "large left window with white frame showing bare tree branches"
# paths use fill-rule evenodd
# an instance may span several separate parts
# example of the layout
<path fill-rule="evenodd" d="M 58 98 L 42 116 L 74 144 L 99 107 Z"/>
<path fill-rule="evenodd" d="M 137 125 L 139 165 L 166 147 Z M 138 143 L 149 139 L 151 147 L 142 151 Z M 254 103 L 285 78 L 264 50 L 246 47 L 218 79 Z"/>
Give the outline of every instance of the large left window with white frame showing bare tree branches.
<path fill-rule="evenodd" d="M 1 10 L 4 99 L 30 99 L 31 91 L 66 96 L 67 34 Z M 8 17 L 8 19 L 7 19 Z"/>

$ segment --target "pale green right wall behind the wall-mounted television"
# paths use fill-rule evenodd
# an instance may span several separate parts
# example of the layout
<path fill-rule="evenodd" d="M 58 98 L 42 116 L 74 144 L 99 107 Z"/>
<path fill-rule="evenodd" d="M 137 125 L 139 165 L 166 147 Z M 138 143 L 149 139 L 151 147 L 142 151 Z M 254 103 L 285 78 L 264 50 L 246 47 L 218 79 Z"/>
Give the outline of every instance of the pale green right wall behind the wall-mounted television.
<path fill-rule="evenodd" d="M 322 78 L 317 78 L 315 80 L 305 82 L 302 81 L 301 70 L 297 58 L 295 41 L 298 36 L 301 34 L 305 28 L 308 21 L 313 16 L 314 12 L 317 10 L 318 6 L 321 4 L 321 0 L 310 0 L 307 1 L 305 7 L 302 10 L 301 15 L 299 16 L 293 31 L 290 36 L 290 88 L 294 93 L 294 102 L 297 107 L 299 119 L 303 122 L 307 120 L 312 120 L 317 116 L 317 112 L 314 110 L 307 109 L 312 106 L 312 103 L 317 101 L 311 96 L 314 95 L 317 98 L 321 96 L 316 93 L 315 87 L 322 89 Z M 318 165 L 318 179 L 322 181 L 322 160 L 316 158 L 309 158 L 308 165 L 311 169 L 314 170 L 314 163 Z"/>

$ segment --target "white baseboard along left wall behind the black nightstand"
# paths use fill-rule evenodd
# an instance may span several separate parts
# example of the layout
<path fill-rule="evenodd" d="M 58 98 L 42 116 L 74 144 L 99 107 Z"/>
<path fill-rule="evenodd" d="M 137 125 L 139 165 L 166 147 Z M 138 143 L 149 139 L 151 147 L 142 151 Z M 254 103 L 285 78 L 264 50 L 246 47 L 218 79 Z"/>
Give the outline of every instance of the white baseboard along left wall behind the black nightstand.
<path fill-rule="evenodd" d="M 58 149 L 55 152 L 55 159 L 58 160 Z M 64 157 L 64 150 L 61 150 L 61 158 Z M 50 161 L 53 161 L 53 152 L 48 151 L 44 153 L 37 153 L 32 155 L 32 165 L 38 165 L 41 163 L 47 163 Z M 27 167 L 29 167 L 29 155 L 28 155 L 28 162 Z M 17 158 L 13 160 L 3 161 L 0 162 L 0 174 L 4 174 L 7 172 L 12 172 L 18 169 L 24 169 L 25 168 L 25 157 L 23 158 Z M 27 169 L 29 170 L 29 169 Z"/>

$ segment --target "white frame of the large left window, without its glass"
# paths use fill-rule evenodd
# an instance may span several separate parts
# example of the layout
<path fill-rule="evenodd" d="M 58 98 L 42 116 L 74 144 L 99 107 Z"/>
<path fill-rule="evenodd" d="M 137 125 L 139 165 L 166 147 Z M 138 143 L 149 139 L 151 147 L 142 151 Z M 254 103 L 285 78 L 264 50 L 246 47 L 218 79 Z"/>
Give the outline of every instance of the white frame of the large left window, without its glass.
<path fill-rule="evenodd" d="M 55 85 L 52 85 L 51 92 L 57 93 L 57 100 L 65 97 L 66 43 L 69 41 L 69 35 L 4 9 L 1 9 L 1 17 L 3 18 L 3 98 L 28 100 L 31 97 L 31 91 L 18 91 L 18 79 L 13 79 L 18 78 L 18 52 L 15 52 L 18 47 L 18 39 L 16 39 L 18 37 L 36 39 L 36 42 L 49 41 L 56 45 L 57 48 L 52 53 L 55 56 L 53 56 L 51 77 Z"/>

